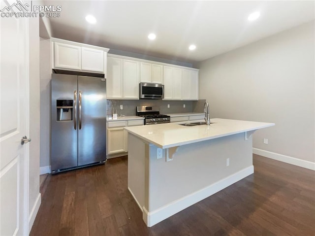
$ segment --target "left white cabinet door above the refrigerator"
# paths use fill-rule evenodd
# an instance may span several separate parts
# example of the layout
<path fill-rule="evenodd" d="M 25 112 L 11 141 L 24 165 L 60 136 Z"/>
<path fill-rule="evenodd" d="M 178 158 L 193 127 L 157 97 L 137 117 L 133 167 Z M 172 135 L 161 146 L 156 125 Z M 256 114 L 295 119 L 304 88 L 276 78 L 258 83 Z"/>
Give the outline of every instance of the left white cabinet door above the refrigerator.
<path fill-rule="evenodd" d="M 54 68 L 81 70 L 81 47 L 54 42 Z"/>

